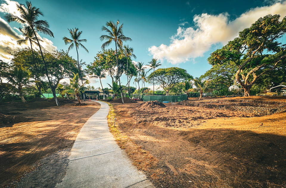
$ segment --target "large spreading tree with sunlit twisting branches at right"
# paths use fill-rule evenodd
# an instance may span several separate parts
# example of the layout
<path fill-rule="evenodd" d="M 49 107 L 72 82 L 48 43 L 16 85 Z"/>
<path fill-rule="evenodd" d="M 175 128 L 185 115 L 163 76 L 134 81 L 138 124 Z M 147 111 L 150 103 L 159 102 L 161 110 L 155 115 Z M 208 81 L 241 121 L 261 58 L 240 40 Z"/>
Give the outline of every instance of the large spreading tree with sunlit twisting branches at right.
<path fill-rule="evenodd" d="M 249 28 L 239 32 L 239 37 L 216 50 L 208 58 L 209 64 L 235 64 L 236 80 L 250 96 L 251 87 L 262 75 L 285 64 L 286 45 L 277 41 L 286 33 L 286 17 L 267 15 L 259 18 Z"/>

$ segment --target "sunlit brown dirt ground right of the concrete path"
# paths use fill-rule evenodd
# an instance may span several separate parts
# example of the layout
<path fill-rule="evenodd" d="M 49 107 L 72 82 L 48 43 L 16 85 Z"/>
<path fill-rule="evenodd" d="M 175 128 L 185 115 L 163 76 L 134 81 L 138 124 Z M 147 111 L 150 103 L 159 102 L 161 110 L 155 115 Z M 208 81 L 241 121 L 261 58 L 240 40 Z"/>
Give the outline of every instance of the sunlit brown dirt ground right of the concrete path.
<path fill-rule="evenodd" d="M 120 134 L 146 152 L 133 154 L 128 144 L 124 149 L 156 187 L 286 187 L 285 112 L 255 117 L 171 104 L 113 105 Z M 152 165 L 143 167 L 152 157 Z"/>

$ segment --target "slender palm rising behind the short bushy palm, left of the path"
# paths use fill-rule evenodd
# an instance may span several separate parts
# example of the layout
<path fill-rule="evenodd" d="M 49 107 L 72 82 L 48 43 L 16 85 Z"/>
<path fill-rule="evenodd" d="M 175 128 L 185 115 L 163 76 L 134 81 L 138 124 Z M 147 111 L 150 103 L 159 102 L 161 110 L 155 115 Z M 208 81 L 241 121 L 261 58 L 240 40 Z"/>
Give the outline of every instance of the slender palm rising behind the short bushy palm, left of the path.
<path fill-rule="evenodd" d="M 85 49 L 86 52 L 88 53 L 88 50 L 86 49 L 86 47 L 84 47 L 83 44 L 81 44 L 81 42 L 86 42 L 86 39 L 80 40 L 80 35 L 83 32 L 79 31 L 78 28 L 69 29 L 69 33 L 71 34 L 71 39 L 69 39 L 67 37 L 63 37 L 63 41 L 65 41 L 66 45 L 71 44 L 69 46 L 68 52 L 69 52 L 69 50 L 73 49 L 75 46 L 75 49 L 77 50 L 77 66 L 78 66 L 78 70 L 80 71 L 80 61 L 78 58 L 78 48 L 83 47 L 83 49 Z M 83 75 L 81 74 L 81 71 L 80 71 L 79 75 L 80 75 L 80 78 L 83 79 Z M 83 84 L 83 81 L 81 81 L 81 83 Z"/>

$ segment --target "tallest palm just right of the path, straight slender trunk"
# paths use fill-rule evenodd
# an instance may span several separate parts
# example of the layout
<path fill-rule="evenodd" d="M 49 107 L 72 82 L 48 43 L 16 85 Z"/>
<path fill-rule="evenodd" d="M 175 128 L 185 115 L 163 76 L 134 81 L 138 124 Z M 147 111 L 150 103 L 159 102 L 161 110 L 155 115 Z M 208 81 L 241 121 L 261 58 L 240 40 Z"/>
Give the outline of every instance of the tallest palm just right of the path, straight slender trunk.
<path fill-rule="evenodd" d="M 100 40 L 107 40 L 105 43 L 102 44 L 102 49 L 109 46 L 112 41 L 115 42 L 115 49 L 116 49 L 116 64 L 117 64 L 117 75 L 119 79 L 119 87 L 120 87 L 120 94 L 122 99 L 122 104 L 124 104 L 123 96 L 122 96 L 122 90 L 121 90 L 121 84 L 120 84 L 120 76 L 119 76 L 119 66 L 118 66 L 118 54 L 117 54 L 117 46 L 122 47 L 122 41 L 132 41 L 131 38 L 126 37 L 123 35 L 123 24 L 121 24 L 118 27 L 119 21 L 117 20 L 116 24 L 114 22 L 109 21 L 106 23 L 107 27 L 110 27 L 111 30 L 109 30 L 107 27 L 102 26 L 102 31 L 106 31 L 108 35 L 102 35 L 100 36 Z"/>

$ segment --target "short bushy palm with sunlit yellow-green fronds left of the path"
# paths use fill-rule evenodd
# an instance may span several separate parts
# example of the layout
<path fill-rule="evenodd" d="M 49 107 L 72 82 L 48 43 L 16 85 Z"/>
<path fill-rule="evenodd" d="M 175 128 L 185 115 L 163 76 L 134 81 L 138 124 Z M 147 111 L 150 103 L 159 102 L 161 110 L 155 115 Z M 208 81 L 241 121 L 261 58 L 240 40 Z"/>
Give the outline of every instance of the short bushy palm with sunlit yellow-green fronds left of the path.
<path fill-rule="evenodd" d="M 87 90 L 87 87 L 85 87 L 85 85 L 89 84 L 89 81 L 84 79 L 83 84 L 80 84 L 80 81 L 83 80 L 79 77 L 78 73 L 76 73 L 74 74 L 74 77 L 72 79 L 69 79 L 70 83 L 68 86 L 62 84 L 59 84 L 59 86 L 63 88 L 62 94 L 75 94 L 77 96 L 78 103 L 82 104 L 80 101 L 80 92 L 84 93 L 84 91 Z"/>

